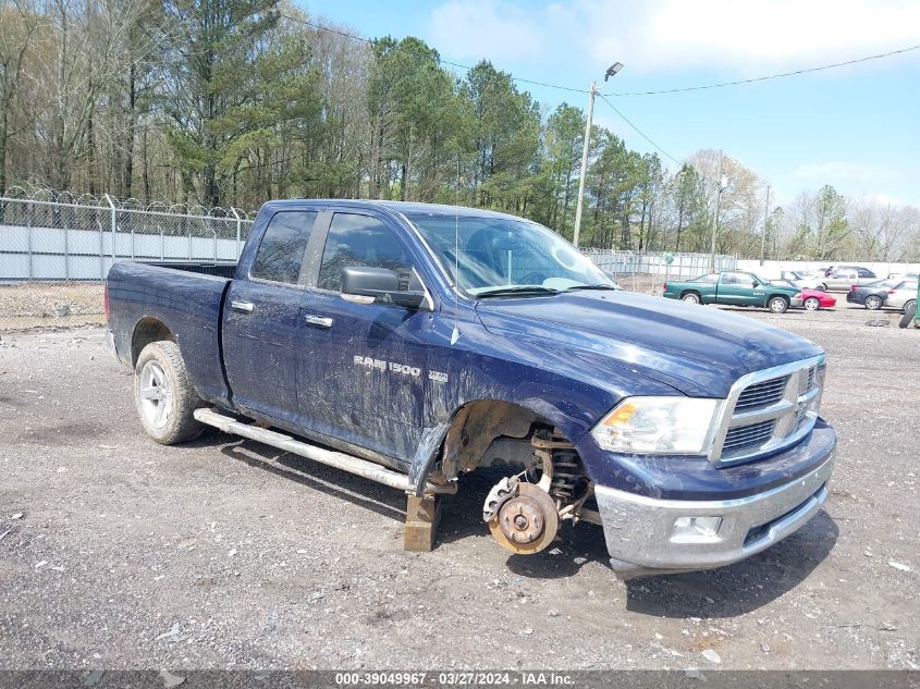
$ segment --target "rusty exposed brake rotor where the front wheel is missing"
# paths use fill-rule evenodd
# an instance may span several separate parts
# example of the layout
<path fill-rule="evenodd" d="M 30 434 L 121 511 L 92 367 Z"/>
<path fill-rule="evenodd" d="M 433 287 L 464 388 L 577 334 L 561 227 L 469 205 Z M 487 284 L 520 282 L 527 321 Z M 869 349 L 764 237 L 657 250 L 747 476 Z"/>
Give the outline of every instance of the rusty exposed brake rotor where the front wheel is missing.
<path fill-rule="evenodd" d="M 553 499 L 541 488 L 519 482 L 514 489 L 515 494 L 504 500 L 489 520 L 489 530 L 505 550 L 532 555 L 552 543 L 559 513 Z"/>

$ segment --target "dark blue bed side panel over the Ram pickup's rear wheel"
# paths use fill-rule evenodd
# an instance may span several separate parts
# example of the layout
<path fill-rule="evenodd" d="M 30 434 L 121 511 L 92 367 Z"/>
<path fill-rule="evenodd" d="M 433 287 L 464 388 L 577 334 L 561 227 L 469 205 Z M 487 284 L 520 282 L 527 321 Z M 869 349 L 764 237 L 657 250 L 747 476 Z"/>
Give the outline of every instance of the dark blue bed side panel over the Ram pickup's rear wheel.
<path fill-rule="evenodd" d="M 109 323 L 115 353 L 133 366 L 145 328 L 163 323 L 173 333 L 192 376 L 209 402 L 229 396 L 220 349 L 220 322 L 229 278 L 144 263 L 116 263 L 109 272 Z"/>

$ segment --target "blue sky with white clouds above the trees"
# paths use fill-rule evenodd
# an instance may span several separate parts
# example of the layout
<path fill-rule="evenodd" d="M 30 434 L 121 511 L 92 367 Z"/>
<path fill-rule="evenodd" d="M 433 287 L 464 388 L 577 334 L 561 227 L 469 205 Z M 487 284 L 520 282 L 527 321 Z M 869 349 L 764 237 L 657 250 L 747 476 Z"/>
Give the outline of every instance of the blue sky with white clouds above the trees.
<path fill-rule="evenodd" d="M 663 162 L 722 149 L 763 177 L 775 202 L 823 184 L 854 199 L 920 207 L 920 49 L 855 65 L 724 88 L 731 82 L 920 45 L 918 0 L 295 0 L 376 38 L 417 36 L 443 60 L 490 60 L 515 77 L 608 99 Z M 614 62 L 625 66 L 608 84 Z M 461 74 L 462 70 L 454 67 Z M 518 83 L 548 112 L 587 93 Z M 594 123 L 657 149 L 598 99 Z"/>

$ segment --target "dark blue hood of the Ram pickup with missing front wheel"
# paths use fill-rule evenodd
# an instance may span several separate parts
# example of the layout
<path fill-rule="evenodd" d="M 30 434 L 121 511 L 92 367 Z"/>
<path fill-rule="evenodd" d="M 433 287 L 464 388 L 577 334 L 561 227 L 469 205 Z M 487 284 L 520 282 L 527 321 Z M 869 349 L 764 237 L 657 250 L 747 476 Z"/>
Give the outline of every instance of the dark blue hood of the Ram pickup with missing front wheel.
<path fill-rule="evenodd" d="M 696 397 L 725 397 L 745 373 L 822 353 L 746 316 L 625 291 L 483 299 L 476 310 L 493 334 L 589 352 Z"/>

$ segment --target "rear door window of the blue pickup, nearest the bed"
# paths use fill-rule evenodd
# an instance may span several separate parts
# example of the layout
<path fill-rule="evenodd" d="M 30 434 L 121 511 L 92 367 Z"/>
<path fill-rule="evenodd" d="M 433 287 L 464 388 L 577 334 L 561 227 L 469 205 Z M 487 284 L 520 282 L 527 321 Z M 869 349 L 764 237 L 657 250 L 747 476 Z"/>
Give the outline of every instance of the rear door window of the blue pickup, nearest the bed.
<path fill-rule="evenodd" d="M 318 214 L 316 211 L 299 210 L 274 213 L 256 251 L 249 276 L 297 284 L 304 253 Z"/>

